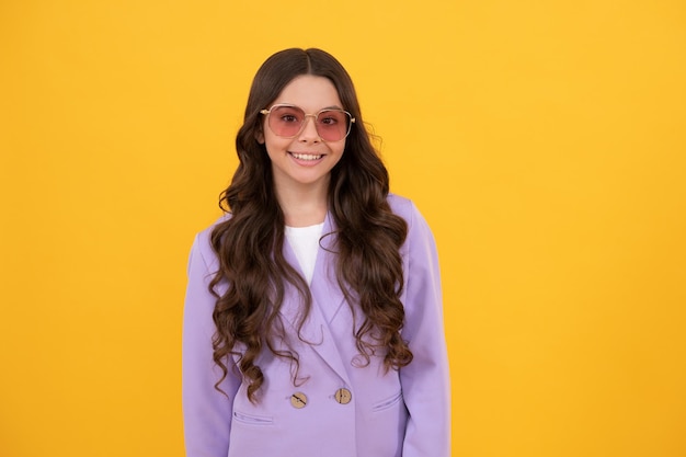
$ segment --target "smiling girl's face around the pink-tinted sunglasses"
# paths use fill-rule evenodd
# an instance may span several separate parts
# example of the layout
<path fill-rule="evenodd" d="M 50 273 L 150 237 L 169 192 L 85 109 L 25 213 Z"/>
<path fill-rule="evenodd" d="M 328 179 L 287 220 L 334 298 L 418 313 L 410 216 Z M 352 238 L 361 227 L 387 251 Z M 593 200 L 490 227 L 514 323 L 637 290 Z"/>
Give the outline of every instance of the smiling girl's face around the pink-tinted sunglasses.
<path fill-rule="evenodd" d="M 272 106 L 276 104 L 295 105 L 307 114 L 317 114 L 323 108 L 343 107 L 333 83 L 327 78 L 311 75 L 299 76 L 290 81 Z M 329 124 L 320 127 L 322 132 L 318 133 L 315 117 L 308 116 L 300 133 L 293 138 L 284 138 L 270 128 L 267 119 L 268 116 L 265 115 L 258 140 L 265 145 L 272 160 L 276 190 L 301 190 L 302 186 L 327 190 L 331 169 L 343 156 L 345 137 L 336 141 L 322 139 L 320 133 L 324 137 L 329 136 L 324 130 L 329 128 Z M 325 122 L 335 121 L 327 118 Z"/>

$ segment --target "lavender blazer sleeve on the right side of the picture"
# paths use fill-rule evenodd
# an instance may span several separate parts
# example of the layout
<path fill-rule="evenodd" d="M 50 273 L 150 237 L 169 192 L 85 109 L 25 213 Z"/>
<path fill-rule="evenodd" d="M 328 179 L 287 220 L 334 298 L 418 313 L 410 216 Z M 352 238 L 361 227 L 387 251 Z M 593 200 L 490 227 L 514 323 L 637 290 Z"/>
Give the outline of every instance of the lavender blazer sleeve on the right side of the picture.
<path fill-rule="evenodd" d="M 402 338 L 414 358 L 400 369 L 410 413 L 402 455 L 449 457 L 450 379 L 438 256 L 431 229 L 412 204 L 408 225 Z"/>

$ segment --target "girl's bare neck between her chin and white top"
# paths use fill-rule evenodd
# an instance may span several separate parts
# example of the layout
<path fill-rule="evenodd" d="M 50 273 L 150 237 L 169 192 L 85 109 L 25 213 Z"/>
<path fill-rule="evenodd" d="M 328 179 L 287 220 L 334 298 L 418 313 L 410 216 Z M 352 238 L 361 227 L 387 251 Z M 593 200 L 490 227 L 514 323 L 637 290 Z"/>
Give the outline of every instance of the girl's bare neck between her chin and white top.
<path fill-rule="evenodd" d="M 329 183 L 276 186 L 276 197 L 287 226 L 308 227 L 323 222 L 329 207 Z"/>

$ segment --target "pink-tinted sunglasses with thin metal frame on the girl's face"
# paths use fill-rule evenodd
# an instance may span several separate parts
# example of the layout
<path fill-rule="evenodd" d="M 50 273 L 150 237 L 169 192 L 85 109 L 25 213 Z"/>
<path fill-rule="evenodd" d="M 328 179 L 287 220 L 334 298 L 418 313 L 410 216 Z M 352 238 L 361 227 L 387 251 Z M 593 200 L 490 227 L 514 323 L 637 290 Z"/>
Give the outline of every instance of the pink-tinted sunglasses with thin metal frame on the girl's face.
<path fill-rule="evenodd" d="M 301 107 L 276 104 L 260 112 L 266 116 L 266 123 L 274 135 L 282 138 L 295 138 L 302 129 L 308 117 L 315 119 L 317 134 L 324 141 L 340 141 L 351 133 L 355 118 L 347 111 L 324 108 L 317 114 L 307 114 Z"/>

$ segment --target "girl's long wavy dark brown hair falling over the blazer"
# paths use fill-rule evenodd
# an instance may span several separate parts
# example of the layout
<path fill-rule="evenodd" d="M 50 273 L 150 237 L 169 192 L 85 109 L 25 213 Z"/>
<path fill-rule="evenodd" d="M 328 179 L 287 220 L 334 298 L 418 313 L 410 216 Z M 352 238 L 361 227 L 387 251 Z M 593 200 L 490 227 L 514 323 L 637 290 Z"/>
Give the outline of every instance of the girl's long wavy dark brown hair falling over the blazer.
<path fill-rule="evenodd" d="M 260 111 L 301 75 L 328 78 L 343 108 L 356 119 L 343 156 L 331 171 L 328 198 L 335 231 L 323 237 L 334 237 L 339 285 L 350 306 L 356 302 L 363 313 L 362 323 L 351 329 L 357 349 L 366 364 L 374 354 L 384 354 L 387 369 L 412 361 L 412 352 L 400 336 L 404 282 L 399 251 L 408 227 L 387 202 L 388 171 L 364 127 L 353 82 L 343 66 L 321 49 L 285 49 L 271 56 L 252 82 L 243 125 L 236 138 L 239 165 L 219 198 L 219 206 L 230 217 L 219 222 L 210 237 L 219 259 L 219 270 L 209 284 L 217 297 L 213 358 L 222 372 L 215 387 L 220 390 L 232 365 L 229 358 L 237 356 L 238 368 L 248 382 L 248 398 L 253 402 L 259 401 L 258 391 L 264 382 L 256 365 L 263 351 L 290 359 L 294 382 L 297 379 L 297 352 L 277 349 L 275 343 L 287 341 L 278 315 L 286 288 L 295 287 L 301 297 L 297 325 L 300 341 L 305 341 L 300 330 L 312 306 L 307 283 L 284 258 L 284 214 L 276 199 L 266 148 L 256 139 L 264 125 Z M 226 292 L 220 294 L 219 285 L 227 285 L 221 288 Z"/>

